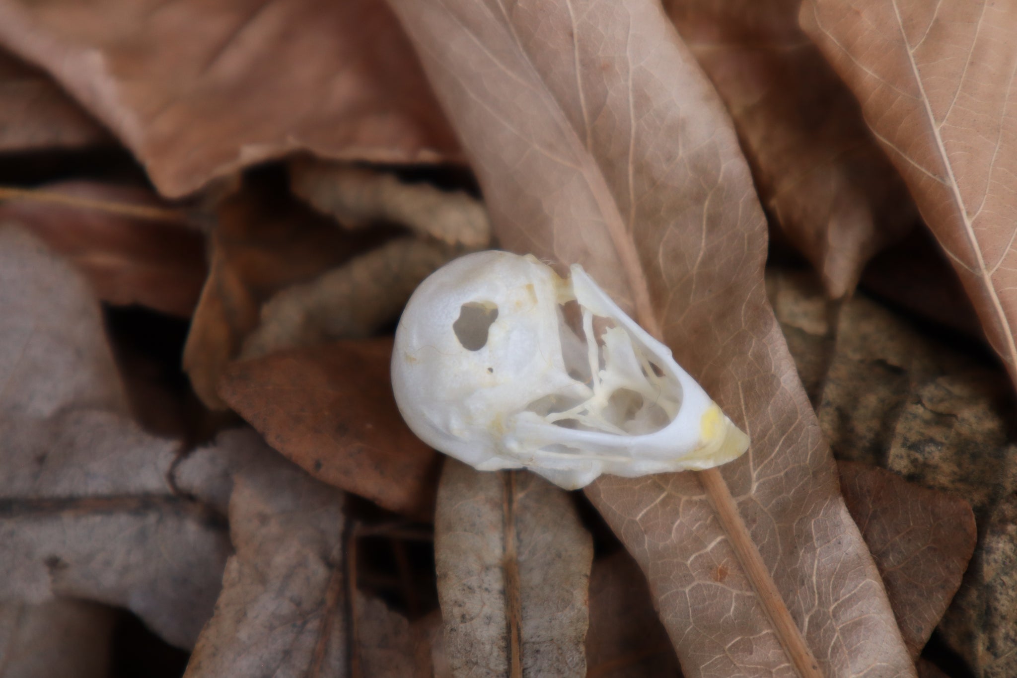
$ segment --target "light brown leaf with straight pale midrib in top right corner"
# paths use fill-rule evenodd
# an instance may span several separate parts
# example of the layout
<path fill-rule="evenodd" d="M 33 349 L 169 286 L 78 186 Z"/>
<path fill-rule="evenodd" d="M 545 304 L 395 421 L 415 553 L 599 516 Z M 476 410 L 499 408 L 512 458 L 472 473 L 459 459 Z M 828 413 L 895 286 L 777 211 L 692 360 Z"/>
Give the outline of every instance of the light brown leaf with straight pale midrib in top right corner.
<path fill-rule="evenodd" d="M 800 20 L 862 103 L 1017 380 L 1017 5 L 818 0 Z"/>

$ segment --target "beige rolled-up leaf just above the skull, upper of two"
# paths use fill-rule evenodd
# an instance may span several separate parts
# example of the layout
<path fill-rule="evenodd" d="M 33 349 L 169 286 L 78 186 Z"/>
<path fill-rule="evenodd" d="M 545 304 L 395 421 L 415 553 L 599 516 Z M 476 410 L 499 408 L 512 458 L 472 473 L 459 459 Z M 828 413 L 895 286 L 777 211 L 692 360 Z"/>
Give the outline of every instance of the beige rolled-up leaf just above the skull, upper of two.
<path fill-rule="evenodd" d="M 290 163 L 293 192 L 347 228 L 394 222 L 448 245 L 482 249 L 491 239 L 483 203 L 465 191 L 401 180 L 392 172 L 299 159 Z"/>

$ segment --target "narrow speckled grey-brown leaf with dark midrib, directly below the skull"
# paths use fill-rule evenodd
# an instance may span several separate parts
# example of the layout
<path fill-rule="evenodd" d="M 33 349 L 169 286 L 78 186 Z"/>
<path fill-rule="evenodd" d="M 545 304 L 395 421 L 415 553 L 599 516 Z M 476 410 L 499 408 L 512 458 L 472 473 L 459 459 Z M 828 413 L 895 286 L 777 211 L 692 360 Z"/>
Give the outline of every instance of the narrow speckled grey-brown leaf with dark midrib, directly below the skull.
<path fill-rule="evenodd" d="M 445 459 L 434 559 L 452 675 L 586 675 L 593 540 L 569 494 Z"/>

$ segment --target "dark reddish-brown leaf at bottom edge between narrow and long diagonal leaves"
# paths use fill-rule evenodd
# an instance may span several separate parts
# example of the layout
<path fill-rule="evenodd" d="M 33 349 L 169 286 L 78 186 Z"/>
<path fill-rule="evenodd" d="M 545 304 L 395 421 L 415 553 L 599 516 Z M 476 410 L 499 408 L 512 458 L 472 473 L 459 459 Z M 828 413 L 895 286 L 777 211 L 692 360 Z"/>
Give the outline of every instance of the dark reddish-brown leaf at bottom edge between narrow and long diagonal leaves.
<path fill-rule="evenodd" d="M 586 665 L 587 678 L 681 675 L 646 577 L 627 553 L 593 563 Z"/>

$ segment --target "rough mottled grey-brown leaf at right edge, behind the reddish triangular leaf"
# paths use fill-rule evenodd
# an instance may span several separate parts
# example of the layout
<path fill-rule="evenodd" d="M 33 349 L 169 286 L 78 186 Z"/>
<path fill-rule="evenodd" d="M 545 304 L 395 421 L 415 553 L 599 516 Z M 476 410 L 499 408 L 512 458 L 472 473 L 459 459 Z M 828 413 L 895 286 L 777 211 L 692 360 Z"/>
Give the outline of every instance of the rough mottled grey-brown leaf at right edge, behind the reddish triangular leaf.
<path fill-rule="evenodd" d="M 822 298 L 818 287 L 810 292 L 800 282 L 797 294 Z M 775 303 L 778 310 L 790 305 Z M 781 320 L 804 331 L 811 323 L 802 316 L 809 313 Z M 860 294 L 841 309 L 833 333 L 829 373 L 812 377 L 825 381 L 818 407 L 824 433 L 842 458 L 886 467 L 970 502 L 979 541 L 941 635 L 977 675 L 1014 674 L 1017 603 L 1008 563 L 1017 554 L 1017 534 L 1008 520 L 1017 443 L 1008 380 Z"/>

